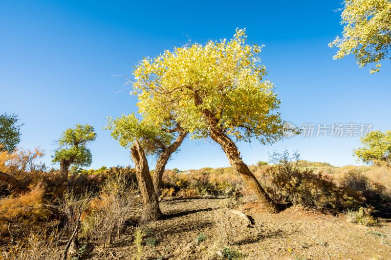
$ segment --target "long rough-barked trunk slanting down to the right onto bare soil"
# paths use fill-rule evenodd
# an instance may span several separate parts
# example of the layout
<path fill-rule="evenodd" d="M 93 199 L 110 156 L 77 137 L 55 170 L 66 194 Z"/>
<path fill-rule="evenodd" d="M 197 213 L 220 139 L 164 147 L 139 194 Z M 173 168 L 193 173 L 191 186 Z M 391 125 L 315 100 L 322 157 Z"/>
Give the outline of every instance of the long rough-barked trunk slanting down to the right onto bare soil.
<path fill-rule="evenodd" d="M 218 126 L 218 120 L 215 115 L 206 109 L 204 109 L 202 113 L 208 120 L 210 137 L 221 145 L 231 166 L 241 174 L 247 184 L 254 190 L 258 200 L 265 206 L 268 213 L 279 213 L 280 209 L 278 208 L 278 205 L 270 199 L 260 182 L 248 168 L 247 164 L 240 158 L 238 147 Z"/>

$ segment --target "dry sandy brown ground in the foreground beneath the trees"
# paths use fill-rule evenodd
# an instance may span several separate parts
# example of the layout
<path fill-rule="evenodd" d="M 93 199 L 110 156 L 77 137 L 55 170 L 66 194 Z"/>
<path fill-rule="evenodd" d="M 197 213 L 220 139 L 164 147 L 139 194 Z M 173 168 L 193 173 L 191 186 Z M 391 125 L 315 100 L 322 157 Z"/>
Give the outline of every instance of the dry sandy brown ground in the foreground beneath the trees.
<path fill-rule="evenodd" d="M 165 219 L 145 225 L 147 236 L 143 240 L 142 259 L 184 260 L 208 259 L 212 254 L 218 256 L 225 246 L 218 232 L 224 222 L 218 219 L 221 217 L 218 209 L 225 200 L 162 200 Z M 379 226 L 367 227 L 348 223 L 344 214 L 315 213 L 300 206 L 291 206 L 280 214 L 270 215 L 252 197 L 244 198 L 244 203 L 236 210 L 251 220 L 251 225 L 247 226 L 239 215 L 232 214 L 230 229 L 235 235 L 230 248 L 240 251 L 240 259 L 391 260 L 391 219 L 385 214 L 379 219 Z M 130 223 L 115 244 L 105 249 L 91 248 L 84 259 L 135 259 L 134 229 Z M 195 239 L 200 232 L 207 236 L 197 242 Z"/>

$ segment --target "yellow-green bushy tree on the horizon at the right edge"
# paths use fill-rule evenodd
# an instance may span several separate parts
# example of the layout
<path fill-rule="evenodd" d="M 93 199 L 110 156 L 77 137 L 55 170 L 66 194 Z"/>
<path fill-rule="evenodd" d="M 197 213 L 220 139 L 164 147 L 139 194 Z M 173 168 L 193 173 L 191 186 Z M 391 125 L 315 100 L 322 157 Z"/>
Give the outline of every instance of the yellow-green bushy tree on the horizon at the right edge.
<path fill-rule="evenodd" d="M 361 138 L 364 147 L 353 150 L 353 156 L 365 163 L 391 167 L 391 131 L 372 131 Z"/>

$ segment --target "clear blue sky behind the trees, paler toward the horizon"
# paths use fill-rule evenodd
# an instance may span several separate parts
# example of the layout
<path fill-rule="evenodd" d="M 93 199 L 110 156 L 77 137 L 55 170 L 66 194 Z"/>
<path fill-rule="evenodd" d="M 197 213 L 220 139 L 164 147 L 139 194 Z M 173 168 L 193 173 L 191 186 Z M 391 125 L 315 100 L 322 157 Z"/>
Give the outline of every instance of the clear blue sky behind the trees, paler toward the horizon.
<path fill-rule="evenodd" d="M 391 66 L 380 73 L 358 68 L 353 57 L 333 60 L 327 44 L 341 35 L 341 0 L 328 1 L 21 1 L 0 4 L 0 113 L 19 115 L 19 146 L 46 151 L 76 123 L 95 127 L 93 162 L 128 165 L 129 151 L 102 130 L 108 116 L 137 112 L 136 99 L 119 91 L 132 65 L 188 40 L 230 39 L 247 28 L 249 42 L 264 44 L 262 64 L 280 93 L 282 119 L 304 122 L 372 123 L 391 129 Z M 188 36 L 187 36 L 188 35 Z M 314 134 L 316 134 L 316 129 Z M 328 133 L 329 134 L 329 133 Z M 345 133 L 344 133 L 345 134 Z M 359 137 L 299 137 L 274 145 L 239 143 L 248 164 L 267 152 L 298 149 L 302 159 L 336 166 L 354 164 Z M 186 140 L 167 168 L 229 166 L 220 147 Z M 154 168 L 153 160 L 150 161 Z M 56 165 L 55 167 L 58 167 Z"/>

